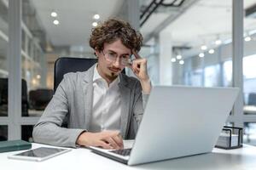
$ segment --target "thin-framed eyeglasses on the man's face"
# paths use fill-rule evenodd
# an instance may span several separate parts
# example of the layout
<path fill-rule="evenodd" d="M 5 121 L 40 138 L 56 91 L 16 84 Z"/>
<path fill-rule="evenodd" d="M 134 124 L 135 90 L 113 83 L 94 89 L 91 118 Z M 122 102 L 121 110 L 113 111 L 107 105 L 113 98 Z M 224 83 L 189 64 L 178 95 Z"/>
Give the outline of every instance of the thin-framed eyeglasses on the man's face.
<path fill-rule="evenodd" d="M 118 55 L 112 51 L 108 51 L 107 53 L 104 54 L 104 52 L 102 51 L 102 54 L 105 56 L 105 58 L 109 61 L 109 62 L 115 62 L 116 59 L 119 57 L 120 59 L 120 64 L 127 66 L 131 63 L 131 56 L 124 54 L 124 55 Z"/>

